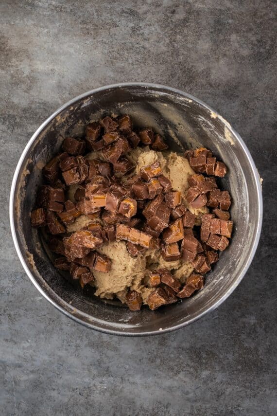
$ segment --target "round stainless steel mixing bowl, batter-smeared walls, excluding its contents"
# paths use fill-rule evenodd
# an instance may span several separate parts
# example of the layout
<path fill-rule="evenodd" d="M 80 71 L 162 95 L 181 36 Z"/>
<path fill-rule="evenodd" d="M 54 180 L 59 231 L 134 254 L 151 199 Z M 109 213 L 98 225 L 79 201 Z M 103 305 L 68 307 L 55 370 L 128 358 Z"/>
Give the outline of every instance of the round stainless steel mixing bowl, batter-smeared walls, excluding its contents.
<path fill-rule="evenodd" d="M 155 312 L 148 308 L 130 312 L 119 303 L 105 302 L 73 288 L 53 267 L 38 231 L 30 224 L 44 163 L 59 150 L 66 135 L 82 136 L 89 120 L 110 113 L 128 113 L 137 127 L 154 127 L 167 137 L 173 150 L 206 146 L 228 166 L 222 186 L 230 191 L 233 201 L 235 229 L 231 244 L 208 274 L 204 289 Z M 260 237 L 260 178 L 240 135 L 202 101 L 162 85 L 110 85 L 74 98 L 36 130 L 17 164 L 10 221 L 19 259 L 35 287 L 52 305 L 75 321 L 110 334 L 159 334 L 189 325 L 218 307 L 242 280 Z"/>

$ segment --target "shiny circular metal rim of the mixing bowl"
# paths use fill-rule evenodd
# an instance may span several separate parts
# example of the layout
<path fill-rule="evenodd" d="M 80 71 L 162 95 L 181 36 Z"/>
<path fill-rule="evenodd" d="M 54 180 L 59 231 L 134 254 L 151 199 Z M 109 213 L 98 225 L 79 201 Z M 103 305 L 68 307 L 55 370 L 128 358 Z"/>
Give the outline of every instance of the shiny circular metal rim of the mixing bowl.
<path fill-rule="evenodd" d="M 109 90 L 109 89 L 114 89 L 114 88 L 121 88 L 121 87 L 144 87 L 144 88 L 149 88 L 149 89 L 156 89 L 156 90 L 167 90 L 168 92 L 172 92 L 172 93 L 177 93 L 187 99 L 193 100 L 196 103 L 200 104 L 201 106 L 203 106 L 204 108 L 208 109 L 209 111 L 212 111 L 214 114 L 216 114 L 216 116 L 218 118 L 220 118 L 220 120 L 222 121 L 222 123 L 225 125 L 225 127 L 227 127 L 232 134 L 236 137 L 237 141 L 240 143 L 240 145 L 242 146 L 242 149 L 248 159 L 249 165 L 251 166 L 252 169 L 252 173 L 253 173 L 253 177 L 255 180 L 255 186 L 256 186 L 256 191 L 257 191 L 257 204 L 258 204 L 258 222 L 257 222 L 257 229 L 256 229 L 256 233 L 255 233 L 255 239 L 254 239 L 254 243 L 252 245 L 251 248 L 251 252 L 249 253 L 249 256 L 246 259 L 246 262 L 244 264 L 244 267 L 241 271 L 241 273 L 239 274 L 237 280 L 234 282 L 234 284 L 225 292 L 225 294 L 218 299 L 213 305 L 211 305 L 210 307 L 208 307 L 206 310 L 204 310 L 202 313 L 200 313 L 198 316 L 193 317 L 191 319 L 189 319 L 186 322 L 177 324 L 177 325 L 173 325 L 169 328 L 163 328 L 160 330 L 155 330 L 155 331 L 142 331 L 142 332 L 128 332 L 128 331 L 124 331 L 121 328 L 119 328 L 118 330 L 114 330 L 114 329 L 106 329 L 106 328 L 102 328 L 100 326 L 91 324 L 89 322 L 85 322 L 82 319 L 76 317 L 75 315 L 72 315 L 68 310 L 66 310 L 64 307 L 62 307 L 61 305 L 59 305 L 58 303 L 56 303 L 48 293 L 46 293 L 44 291 L 44 289 L 37 283 L 37 281 L 35 280 L 35 277 L 33 276 L 33 274 L 31 273 L 31 271 L 28 268 L 27 263 L 25 262 L 25 259 L 22 255 L 22 251 L 20 249 L 20 246 L 18 244 L 18 239 L 17 239 L 17 234 L 16 234 L 16 229 L 15 229 L 15 220 L 14 220 L 14 208 L 15 208 L 15 190 L 16 190 L 16 185 L 17 185 L 17 181 L 19 179 L 19 172 L 22 166 L 22 163 L 26 157 L 26 154 L 28 153 L 30 147 L 33 145 L 33 143 L 35 142 L 35 139 L 37 138 L 37 136 L 40 134 L 40 132 L 52 121 L 52 119 L 54 117 L 56 117 L 61 111 L 65 110 L 66 108 L 68 108 L 70 105 L 74 104 L 76 101 L 79 101 L 83 98 L 86 98 L 87 96 L 93 95 L 94 93 L 97 92 L 101 92 L 104 90 Z M 15 173 L 13 176 L 13 181 L 12 181 L 12 185 L 11 185 L 11 192 L 10 192 L 10 202 L 9 202 L 9 216 L 10 216 L 10 227 L 11 227 L 11 232 L 12 232 L 12 237 L 13 237 L 13 241 L 14 241 L 14 245 L 17 251 L 17 255 L 19 257 L 19 260 L 26 272 L 26 274 L 28 275 L 28 277 L 30 278 L 31 282 L 34 284 L 35 288 L 42 294 L 42 296 L 48 300 L 48 302 L 50 302 L 54 307 L 56 307 L 60 312 L 64 313 L 66 316 L 68 316 L 69 318 L 71 318 L 72 320 L 78 322 L 79 324 L 82 324 L 84 326 L 87 326 L 89 328 L 95 329 L 97 331 L 100 332 L 104 332 L 110 335 L 121 335 L 121 336 L 149 336 L 149 335 L 158 335 L 158 334 L 162 334 L 165 332 L 171 332 L 175 329 L 179 329 L 182 328 L 184 326 L 188 326 L 189 324 L 191 324 L 192 322 L 197 321 L 198 319 L 202 318 L 204 315 L 206 315 L 208 312 L 216 309 L 217 307 L 219 307 L 226 299 L 228 296 L 230 296 L 230 294 L 236 289 L 236 287 L 240 284 L 240 282 L 242 281 L 242 278 L 244 277 L 246 271 L 248 270 L 253 257 L 256 253 L 258 244 L 259 244 L 259 240 L 260 240 L 260 233 L 261 233 L 261 226 L 262 226 L 262 213 L 263 213 L 263 204 L 262 204 L 262 188 L 261 188 L 261 181 L 260 181 L 260 175 L 258 173 L 258 170 L 256 168 L 256 165 L 254 163 L 254 160 L 247 148 L 247 146 L 245 145 L 245 143 L 242 140 L 242 137 L 240 136 L 240 134 L 232 127 L 230 126 L 230 124 L 214 109 L 212 109 L 210 106 L 208 106 L 206 103 L 204 103 L 202 100 L 194 97 L 193 95 L 184 92 L 182 90 L 173 88 L 173 87 L 169 87 L 169 86 L 165 86 L 162 84 L 155 84 L 155 83 L 147 83 L 147 82 L 122 82 L 122 83 L 117 83 L 117 84 L 110 84 L 110 85 L 105 85 L 103 87 L 99 87 L 93 90 L 89 90 L 87 92 L 84 92 L 83 94 L 78 95 L 77 97 L 69 100 L 67 103 L 63 104 L 60 108 L 58 108 L 57 110 L 55 110 L 36 130 L 35 133 L 32 135 L 31 139 L 28 141 L 27 145 L 25 146 L 19 161 L 17 163 L 17 167 L 15 169 Z M 67 304 L 63 299 L 62 301 Z M 69 307 L 70 305 L 67 304 Z M 81 314 L 83 314 L 83 312 L 79 311 Z"/>

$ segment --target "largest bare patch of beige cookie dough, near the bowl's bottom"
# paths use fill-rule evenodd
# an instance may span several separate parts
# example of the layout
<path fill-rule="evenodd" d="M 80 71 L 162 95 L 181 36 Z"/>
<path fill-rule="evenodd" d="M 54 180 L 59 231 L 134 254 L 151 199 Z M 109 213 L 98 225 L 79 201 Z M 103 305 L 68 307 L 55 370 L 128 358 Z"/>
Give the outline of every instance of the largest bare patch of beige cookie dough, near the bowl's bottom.
<path fill-rule="evenodd" d="M 99 253 L 107 255 L 112 261 L 108 273 L 93 271 L 95 278 L 96 296 L 106 298 L 131 286 L 133 279 L 144 276 L 146 260 L 143 257 L 132 257 L 123 241 L 106 244 Z"/>

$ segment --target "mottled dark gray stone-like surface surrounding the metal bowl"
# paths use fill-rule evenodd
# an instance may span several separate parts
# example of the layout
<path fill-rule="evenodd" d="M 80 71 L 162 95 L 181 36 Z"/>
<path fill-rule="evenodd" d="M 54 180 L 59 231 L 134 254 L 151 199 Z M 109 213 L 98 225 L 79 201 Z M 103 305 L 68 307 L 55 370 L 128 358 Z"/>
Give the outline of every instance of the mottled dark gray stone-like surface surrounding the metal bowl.
<path fill-rule="evenodd" d="M 1 415 L 276 415 L 275 5 L 0 1 Z M 140 339 L 89 330 L 44 300 L 8 222 L 35 129 L 74 96 L 122 81 L 177 87 L 217 109 L 264 180 L 260 246 L 240 286 L 195 324 Z"/>

